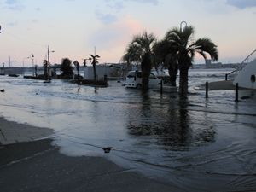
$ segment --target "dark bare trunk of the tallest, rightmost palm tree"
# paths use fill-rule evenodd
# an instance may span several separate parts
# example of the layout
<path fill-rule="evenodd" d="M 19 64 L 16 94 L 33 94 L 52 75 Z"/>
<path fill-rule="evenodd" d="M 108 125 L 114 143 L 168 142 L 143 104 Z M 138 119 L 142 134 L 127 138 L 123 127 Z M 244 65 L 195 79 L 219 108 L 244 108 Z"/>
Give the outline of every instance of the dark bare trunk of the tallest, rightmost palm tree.
<path fill-rule="evenodd" d="M 183 67 L 179 74 L 179 96 L 187 98 L 189 85 L 189 68 Z"/>

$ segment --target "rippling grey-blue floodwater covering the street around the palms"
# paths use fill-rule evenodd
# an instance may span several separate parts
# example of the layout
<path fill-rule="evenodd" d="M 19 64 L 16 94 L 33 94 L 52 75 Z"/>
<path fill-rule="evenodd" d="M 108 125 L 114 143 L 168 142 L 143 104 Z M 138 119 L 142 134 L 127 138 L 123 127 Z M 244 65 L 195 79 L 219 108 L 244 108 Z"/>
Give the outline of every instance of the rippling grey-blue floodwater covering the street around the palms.
<path fill-rule="evenodd" d="M 256 190 L 256 91 L 196 89 L 232 69 L 189 70 L 189 96 L 0 76 L 0 115 L 55 131 L 70 156 L 102 156 L 182 191 Z M 178 79 L 177 79 L 178 84 Z M 102 148 L 111 148 L 105 154 Z"/>

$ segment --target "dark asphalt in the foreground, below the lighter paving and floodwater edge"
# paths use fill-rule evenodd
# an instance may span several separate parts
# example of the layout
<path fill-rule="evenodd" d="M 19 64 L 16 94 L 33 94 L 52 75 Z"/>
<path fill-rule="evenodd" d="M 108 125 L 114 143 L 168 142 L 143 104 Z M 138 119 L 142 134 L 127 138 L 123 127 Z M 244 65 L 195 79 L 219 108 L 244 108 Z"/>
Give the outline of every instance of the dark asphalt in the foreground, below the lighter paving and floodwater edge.
<path fill-rule="evenodd" d="M 51 139 L 0 146 L 0 189 L 17 191 L 182 191 L 102 157 L 70 157 Z"/>

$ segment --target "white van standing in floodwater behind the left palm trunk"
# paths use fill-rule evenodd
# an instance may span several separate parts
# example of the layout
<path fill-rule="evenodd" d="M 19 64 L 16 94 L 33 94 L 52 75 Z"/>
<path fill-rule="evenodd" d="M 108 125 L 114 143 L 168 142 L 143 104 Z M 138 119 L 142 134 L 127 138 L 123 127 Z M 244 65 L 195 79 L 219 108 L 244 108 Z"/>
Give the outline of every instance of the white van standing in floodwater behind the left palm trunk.
<path fill-rule="evenodd" d="M 149 75 L 149 88 L 160 87 L 161 79 L 158 79 L 154 73 Z M 125 79 L 126 88 L 141 88 L 142 87 L 142 72 L 141 71 L 130 71 Z"/>

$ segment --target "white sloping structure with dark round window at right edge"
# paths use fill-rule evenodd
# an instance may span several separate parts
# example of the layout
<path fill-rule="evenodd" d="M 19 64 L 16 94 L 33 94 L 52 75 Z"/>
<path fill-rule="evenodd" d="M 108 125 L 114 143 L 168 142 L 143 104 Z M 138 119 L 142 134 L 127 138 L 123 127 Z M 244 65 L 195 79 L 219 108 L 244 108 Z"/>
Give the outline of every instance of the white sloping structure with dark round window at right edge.
<path fill-rule="evenodd" d="M 238 84 L 241 88 L 256 90 L 256 58 L 253 61 L 245 63 L 247 59 L 256 52 L 256 49 L 247 56 L 236 71 L 233 84 Z"/>

